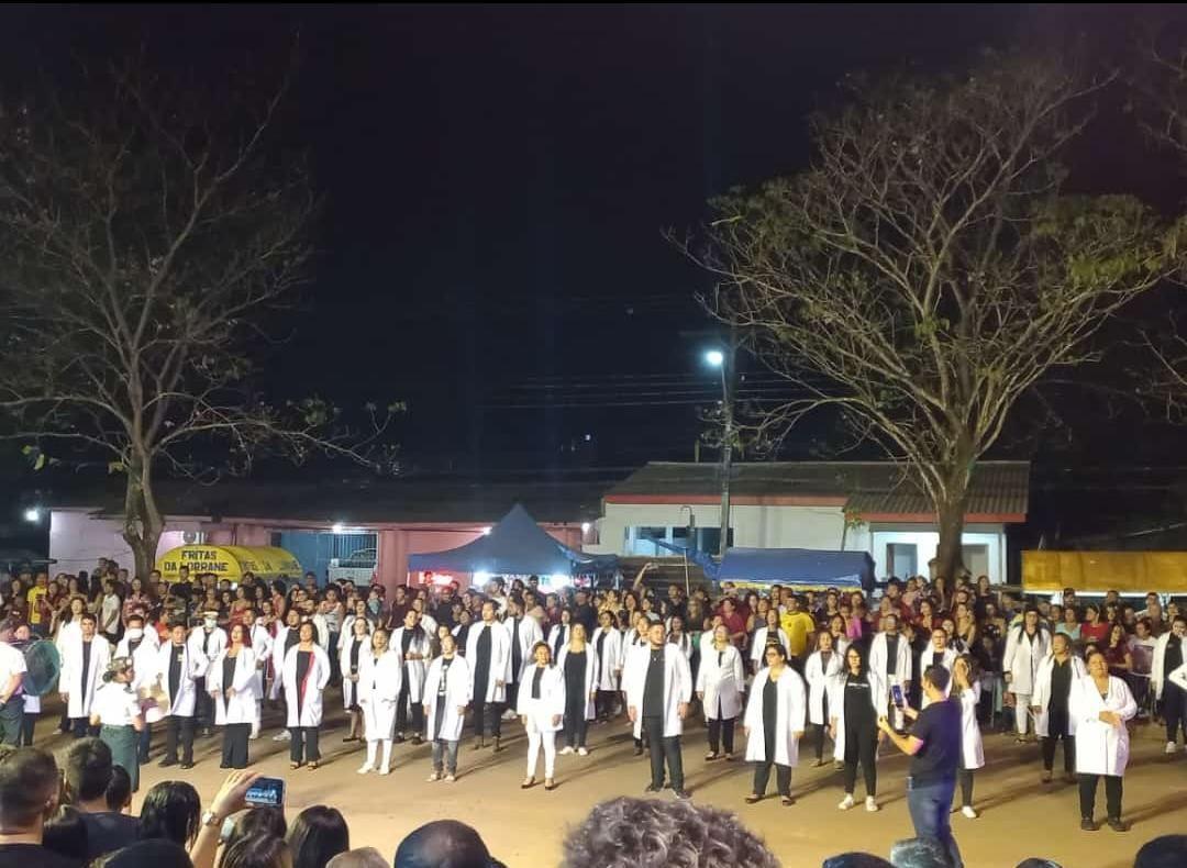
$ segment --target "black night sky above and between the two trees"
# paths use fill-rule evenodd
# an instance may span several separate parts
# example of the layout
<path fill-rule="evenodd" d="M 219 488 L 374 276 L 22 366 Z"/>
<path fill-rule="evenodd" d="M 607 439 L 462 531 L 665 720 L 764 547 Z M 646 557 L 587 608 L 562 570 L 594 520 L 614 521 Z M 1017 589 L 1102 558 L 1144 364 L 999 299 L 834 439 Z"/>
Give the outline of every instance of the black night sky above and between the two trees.
<path fill-rule="evenodd" d="M 846 72 L 959 69 L 982 46 L 1081 33 L 1107 50 L 1130 14 L 6 7 L 0 55 L 9 72 L 52 70 L 142 43 L 218 76 L 243 53 L 281 61 L 299 32 L 279 134 L 307 148 L 326 210 L 271 388 L 407 400 L 408 467 L 605 467 L 691 458 L 697 407 L 719 394 L 699 360 L 706 281 L 665 228 L 696 227 L 715 192 L 802 167 L 805 115 Z M 1102 153 L 1125 163 L 1110 141 Z M 772 387 L 755 370 L 747 382 Z"/>

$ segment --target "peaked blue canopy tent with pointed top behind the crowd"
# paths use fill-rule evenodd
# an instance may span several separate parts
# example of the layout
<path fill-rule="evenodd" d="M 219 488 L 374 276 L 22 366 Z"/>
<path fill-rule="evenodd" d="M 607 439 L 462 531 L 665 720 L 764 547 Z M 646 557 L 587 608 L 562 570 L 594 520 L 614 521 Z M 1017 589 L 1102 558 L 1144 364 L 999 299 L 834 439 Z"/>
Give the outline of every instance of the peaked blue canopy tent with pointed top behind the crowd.
<path fill-rule="evenodd" d="M 563 545 L 541 531 L 527 509 L 516 503 L 490 533 L 457 549 L 413 555 L 408 558 L 408 570 L 572 576 L 614 570 L 617 560 L 614 556 L 585 555 Z"/>

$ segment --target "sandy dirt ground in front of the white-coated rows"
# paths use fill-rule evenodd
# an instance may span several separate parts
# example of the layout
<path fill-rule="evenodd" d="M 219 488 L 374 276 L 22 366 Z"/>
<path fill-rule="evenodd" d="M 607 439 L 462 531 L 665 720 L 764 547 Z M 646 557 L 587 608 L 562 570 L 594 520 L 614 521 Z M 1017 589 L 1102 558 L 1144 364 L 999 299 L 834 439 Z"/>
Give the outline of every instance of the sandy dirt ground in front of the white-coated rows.
<path fill-rule="evenodd" d="M 328 693 L 326 707 L 341 709 L 337 695 L 331 699 Z M 57 749 L 66 743 L 68 736 L 51 735 L 57 712 L 47 703 L 38 727 L 38 745 Z M 287 743 L 271 739 L 278 722 L 277 712 L 266 715 L 266 727 L 273 728 L 252 742 L 252 759 L 262 773 L 288 781 L 290 816 L 312 804 L 334 805 L 350 823 L 353 847 L 375 847 L 388 857 L 406 832 L 431 819 L 451 817 L 474 825 L 491 853 L 513 868 L 557 866 L 570 825 L 601 800 L 621 794 L 641 796 L 649 780 L 647 758 L 634 755 L 624 718 L 591 728 L 589 756 L 558 756 L 559 786 L 553 792 L 545 792 L 539 785 L 528 791 L 519 788 L 527 741 L 518 723 L 503 724 L 510 737 L 497 755 L 489 748 L 471 750 L 468 737 L 459 752 L 457 783 L 429 784 L 427 745 L 396 746 L 394 768 L 386 778 L 358 775 L 363 748 L 342 742 L 341 712 L 331 715 L 323 733 L 323 767 L 317 772 L 292 772 Z M 178 777 L 176 767 L 157 767 L 163 740 L 163 735 L 153 737 L 153 760 L 141 771 L 140 796 L 157 781 Z M 1161 727 L 1136 730 L 1124 797 L 1125 816 L 1134 828 L 1126 834 L 1107 826 L 1084 832 L 1079 829 L 1075 786 L 1039 781 L 1039 748 L 1017 746 L 1013 736 L 986 735 L 989 765 L 977 773 L 975 792 L 982 816 L 975 821 L 960 815 L 952 817 L 965 863 L 970 868 L 1013 867 L 1027 856 L 1042 856 L 1066 868 L 1128 868 L 1143 842 L 1187 831 L 1187 756 L 1182 752 L 1166 756 L 1163 743 Z M 183 773 L 202 793 L 204 803 L 214 796 L 224 774 L 218 769 L 220 745 L 217 733 L 199 739 L 198 765 Z M 740 737 L 741 745 L 744 742 Z M 786 868 L 819 866 L 827 856 L 855 849 L 887 856 L 894 841 L 912 835 L 903 797 L 907 768 L 903 756 L 887 755 L 880 761 L 881 812 L 867 813 L 859 800 L 857 807 L 845 813 L 837 810 L 843 796 L 840 773 L 831 766 L 795 769 L 793 806 L 782 807 L 773 798 L 751 806 L 743 803 L 750 791 L 750 767 L 744 762 L 705 764 L 705 749 L 704 729 L 698 722 L 684 739 L 685 777 L 693 799 L 736 811 L 766 838 Z M 1058 754 L 1056 768 L 1061 761 Z M 542 774 L 542 759 L 540 771 Z M 859 799 L 862 794 L 858 779 Z M 139 799 L 133 810 L 139 811 Z M 1104 812 L 1102 787 L 1097 818 L 1103 821 Z"/>

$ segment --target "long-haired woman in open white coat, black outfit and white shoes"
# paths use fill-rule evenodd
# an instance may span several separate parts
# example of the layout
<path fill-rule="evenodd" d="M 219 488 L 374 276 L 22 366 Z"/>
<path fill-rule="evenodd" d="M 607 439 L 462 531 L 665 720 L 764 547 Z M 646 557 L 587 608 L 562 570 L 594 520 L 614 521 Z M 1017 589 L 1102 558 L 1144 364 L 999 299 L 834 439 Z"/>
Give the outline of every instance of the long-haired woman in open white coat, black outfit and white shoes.
<path fill-rule="evenodd" d="M 865 780 L 865 810 L 877 811 L 878 794 L 878 717 L 890 704 L 890 688 L 882 676 L 869 667 L 858 645 L 845 648 L 845 665 L 830 686 L 829 724 L 833 741 L 833 759 L 845 765 L 845 798 L 837 805 L 842 811 L 853 806 L 857 766 Z"/>

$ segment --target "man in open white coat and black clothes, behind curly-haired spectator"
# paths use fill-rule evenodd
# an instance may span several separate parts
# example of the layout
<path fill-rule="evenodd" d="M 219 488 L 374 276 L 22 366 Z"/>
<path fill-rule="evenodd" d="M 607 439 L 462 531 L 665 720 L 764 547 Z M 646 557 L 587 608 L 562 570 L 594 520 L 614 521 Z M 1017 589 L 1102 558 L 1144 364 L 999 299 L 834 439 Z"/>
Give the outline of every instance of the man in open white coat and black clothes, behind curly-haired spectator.
<path fill-rule="evenodd" d="M 652 748 L 652 783 L 647 792 L 664 788 L 664 764 L 667 762 L 672 792 L 680 800 L 691 798 L 684 788 L 684 758 L 680 734 L 692 701 L 692 672 L 688 659 L 667 641 L 664 622 L 655 620 L 647 632 L 647 650 L 636 652 L 624 673 L 627 714 L 635 739 L 648 733 Z"/>

